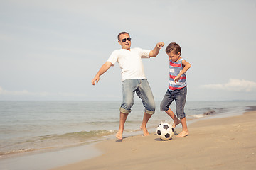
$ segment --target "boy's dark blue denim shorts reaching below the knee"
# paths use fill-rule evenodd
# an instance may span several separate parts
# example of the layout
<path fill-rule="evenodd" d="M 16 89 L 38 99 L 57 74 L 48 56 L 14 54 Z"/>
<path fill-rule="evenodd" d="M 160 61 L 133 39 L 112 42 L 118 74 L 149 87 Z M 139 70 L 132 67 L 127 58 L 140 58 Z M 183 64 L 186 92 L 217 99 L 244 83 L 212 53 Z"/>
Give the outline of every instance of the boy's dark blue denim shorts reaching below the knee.
<path fill-rule="evenodd" d="M 175 91 L 166 91 L 163 100 L 160 104 L 160 111 L 168 111 L 171 102 L 175 100 L 176 102 L 176 114 L 178 118 L 185 118 L 184 107 L 186 103 L 186 94 L 187 88 L 186 86 L 182 89 L 177 89 Z"/>

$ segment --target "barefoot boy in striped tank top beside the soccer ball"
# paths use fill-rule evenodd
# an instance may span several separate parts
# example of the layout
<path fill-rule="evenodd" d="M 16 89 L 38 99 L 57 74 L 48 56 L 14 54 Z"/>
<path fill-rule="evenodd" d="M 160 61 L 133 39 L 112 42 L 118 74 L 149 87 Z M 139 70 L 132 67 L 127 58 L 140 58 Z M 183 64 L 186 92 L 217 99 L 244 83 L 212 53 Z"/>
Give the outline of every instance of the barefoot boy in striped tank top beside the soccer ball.
<path fill-rule="evenodd" d="M 173 128 L 179 123 L 182 125 L 182 132 L 177 137 L 185 137 L 188 135 L 188 127 L 186 124 L 186 115 L 184 106 L 186 103 L 186 71 L 191 67 L 191 64 L 181 58 L 181 47 L 171 42 L 166 47 L 166 54 L 169 56 L 169 89 L 161 101 L 160 110 L 165 111 L 174 120 Z M 169 108 L 172 101 L 176 101 L 176 114 Z M 177 118 L 178 117 L 178 118 Z"/>

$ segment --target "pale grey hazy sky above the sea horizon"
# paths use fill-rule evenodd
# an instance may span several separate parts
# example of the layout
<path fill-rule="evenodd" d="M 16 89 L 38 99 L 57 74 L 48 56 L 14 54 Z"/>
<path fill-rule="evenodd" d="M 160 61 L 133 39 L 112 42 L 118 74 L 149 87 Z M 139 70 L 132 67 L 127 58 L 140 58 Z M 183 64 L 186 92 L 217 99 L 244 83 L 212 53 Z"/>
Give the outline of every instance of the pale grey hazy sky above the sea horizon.
<path fill-rule="evenodd" d="M 256 100 L 256 1 L 1 0 L 1 101 L 122 101 L 119 64 L 91 81 L 127 31 L 156 101 L 168 88 L 165 48 L 181 45 L 188 101 Z M 137 96 L 135 100 L 139 100 Z"/>

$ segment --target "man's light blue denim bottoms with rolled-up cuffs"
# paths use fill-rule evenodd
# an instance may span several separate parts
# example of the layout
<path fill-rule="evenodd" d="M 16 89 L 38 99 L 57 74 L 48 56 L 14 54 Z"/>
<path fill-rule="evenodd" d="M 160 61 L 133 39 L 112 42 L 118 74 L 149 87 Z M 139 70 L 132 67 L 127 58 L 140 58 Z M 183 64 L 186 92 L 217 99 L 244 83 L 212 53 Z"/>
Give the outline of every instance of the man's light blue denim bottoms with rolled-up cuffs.
<path fill-rule="evenodd" d="M 146 79 L 126 79 L 122 81 L 123 102 L 120 107 L 120 112 L 130 113 L 134 104 L 134 93 L 142 99 L 145 112 L 154 114 L 155 102 L 149 82 Z"/>

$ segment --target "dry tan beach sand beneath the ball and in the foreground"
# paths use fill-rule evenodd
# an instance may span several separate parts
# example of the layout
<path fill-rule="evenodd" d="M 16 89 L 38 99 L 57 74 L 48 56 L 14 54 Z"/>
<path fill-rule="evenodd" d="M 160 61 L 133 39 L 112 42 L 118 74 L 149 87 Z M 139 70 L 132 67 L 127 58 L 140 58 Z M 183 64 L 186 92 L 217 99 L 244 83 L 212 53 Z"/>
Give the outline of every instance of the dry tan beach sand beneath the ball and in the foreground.
<path fill-rule="evenodd" d="M 256 169 L 256 111 L 200 120 L 187 137 L 163 141 L 155 134 L 106 140 L 95 147 L 104 154 L 56 168 L 65 169 Z M 181 129 L 176 129 L 181 132 Z M 86 151 L 85 151 L 86 152 Z"/>

